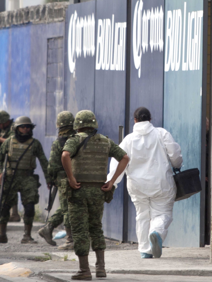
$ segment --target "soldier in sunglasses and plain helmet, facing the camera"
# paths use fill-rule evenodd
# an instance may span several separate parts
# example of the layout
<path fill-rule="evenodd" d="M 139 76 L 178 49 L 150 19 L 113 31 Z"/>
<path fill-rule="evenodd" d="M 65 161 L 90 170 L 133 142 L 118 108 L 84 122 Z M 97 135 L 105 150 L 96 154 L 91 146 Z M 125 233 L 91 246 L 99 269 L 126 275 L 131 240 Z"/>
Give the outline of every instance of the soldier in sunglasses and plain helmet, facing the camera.
<path fill-rule="evenodd" d="M 0 148 L 0 180 L 2 179 L 3 163 L 8 154 L 7 175 L 3 193 L 3 206 L 0 217 L 0 243 L 7 243 L 7 222 L 10 217 L 10 208 L 17 202 L 17 192 L 21 194 L 24 207 L 24 235 L 21 243 L 37 243 L 31 237 L 34 219 L 34 205 L 39 201 L 39 176 L 34 174 L 36 157 L 50 186 L 51 177 L 47 173 L 48 161 L 41 143 L 34 139 L 30 118 L 20 116 L 14 124 L 15 135 L 9 137 Z M 25 152 L 25 153 L 24 153 Z M 24 153 L 24 154 L 23 154 Z M 20 161 L 17 160 L 22 156 Z"/>

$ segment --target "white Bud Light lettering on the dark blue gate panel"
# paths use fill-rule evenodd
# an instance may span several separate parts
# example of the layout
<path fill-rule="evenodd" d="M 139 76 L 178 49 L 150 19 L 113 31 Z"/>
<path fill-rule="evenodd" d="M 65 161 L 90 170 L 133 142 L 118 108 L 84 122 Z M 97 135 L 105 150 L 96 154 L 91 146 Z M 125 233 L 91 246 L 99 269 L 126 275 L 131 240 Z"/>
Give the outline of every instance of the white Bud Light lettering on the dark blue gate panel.
<path fill-rule="evenodd" d="M 99 19 L 96 43 L 96 70 L 124 70 L 126 22 L 114 24 L 111 19 Z"/>

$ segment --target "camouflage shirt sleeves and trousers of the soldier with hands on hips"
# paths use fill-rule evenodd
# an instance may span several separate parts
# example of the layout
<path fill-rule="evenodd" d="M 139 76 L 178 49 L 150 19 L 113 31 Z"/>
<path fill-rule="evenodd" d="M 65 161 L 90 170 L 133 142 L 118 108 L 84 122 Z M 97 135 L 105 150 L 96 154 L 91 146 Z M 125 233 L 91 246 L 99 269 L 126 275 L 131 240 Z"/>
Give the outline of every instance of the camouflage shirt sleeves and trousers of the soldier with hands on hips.
<path fill-rule="evenodd" d="M 89 135 L 92 131 L 93 129 L 88 129 L 85 133 Z M 79 139 L 80 136 L 78 135 L 70 136 L 61 151 L 68 151 L 70 156 L 73 156 L 80 144 Z M 108 157 L 114 157 L 117 161 L 120 161 L 126 155 L 126 152 L 111 139 L 108 140 L 110 142 Z M 80 150 L 83 150 L 83 147 Z M 106 248 L 101 223 L 105 202 L 105 192 L 101 190 L 103 183 L 81 182 L 79 189 L 71 189 L 72 196 L 68 198 L 68 211 L 72 227 L 74 251 L 77 256 L 89 254 L 90 240 L 93 251 L 105 250 Z"/>

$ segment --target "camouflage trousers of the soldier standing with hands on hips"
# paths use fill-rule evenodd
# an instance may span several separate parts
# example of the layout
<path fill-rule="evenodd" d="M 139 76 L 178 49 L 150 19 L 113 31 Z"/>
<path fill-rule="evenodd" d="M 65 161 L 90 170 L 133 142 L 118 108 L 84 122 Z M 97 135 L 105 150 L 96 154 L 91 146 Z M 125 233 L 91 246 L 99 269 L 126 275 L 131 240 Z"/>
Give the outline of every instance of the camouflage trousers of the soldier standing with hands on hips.
<path fill-rule="evenodd" d="M 102 183 L 87 182 L 73 190 L 72 197 L 68 199 L 74 251 L 78 256 L 89 254 L 90 241 L 93 251 L 106 248 L 101 224 L 105 194 L 101 186 Z"/>

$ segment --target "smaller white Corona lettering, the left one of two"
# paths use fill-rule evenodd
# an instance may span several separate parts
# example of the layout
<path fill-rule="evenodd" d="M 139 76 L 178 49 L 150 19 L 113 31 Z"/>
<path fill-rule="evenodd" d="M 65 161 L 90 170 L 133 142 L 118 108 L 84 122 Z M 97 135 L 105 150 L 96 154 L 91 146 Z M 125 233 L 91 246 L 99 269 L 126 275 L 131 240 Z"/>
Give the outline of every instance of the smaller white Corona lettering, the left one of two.
<path fill-rule="evenodd" d="M 83 38 L 82 38 L 83 34 Z M 78 17 L 75 10 L 71 15 L 68 30 L 68 65 L 75 77 L 76 58 L 94 56 L 95 53 L 95 19 L 94 14 L 87 17 Z"/>

